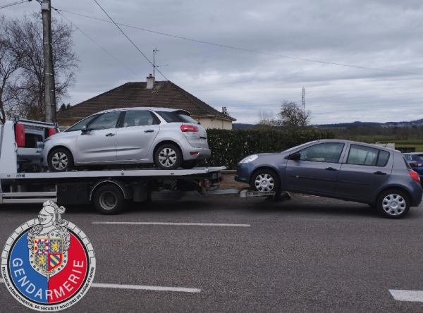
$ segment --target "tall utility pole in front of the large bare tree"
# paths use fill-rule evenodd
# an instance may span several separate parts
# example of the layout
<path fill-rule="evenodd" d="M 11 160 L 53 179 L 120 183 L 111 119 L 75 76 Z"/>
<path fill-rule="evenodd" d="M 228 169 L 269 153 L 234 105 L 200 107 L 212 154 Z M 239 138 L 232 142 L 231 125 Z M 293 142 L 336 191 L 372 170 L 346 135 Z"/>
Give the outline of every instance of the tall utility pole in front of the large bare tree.
<path fill-rule="evenodd" d="M 45 121 L 56 123 L 56 91 L 54 85 L 53 42 L 51 40 L 51 2 L 43 0 L 42 38 L 44 47 L 44 106 Z"/>

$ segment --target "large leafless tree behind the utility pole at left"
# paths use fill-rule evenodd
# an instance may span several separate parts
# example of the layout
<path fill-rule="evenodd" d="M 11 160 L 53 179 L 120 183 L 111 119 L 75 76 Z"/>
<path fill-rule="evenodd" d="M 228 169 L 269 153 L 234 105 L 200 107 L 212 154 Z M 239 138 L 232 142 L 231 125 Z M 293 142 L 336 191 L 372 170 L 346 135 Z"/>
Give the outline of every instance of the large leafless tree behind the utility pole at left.
<path fill-rule="evenodd" d="M 11 19 L 8 31 L 17 40 L 13 47 L 25 51 L 13 78 L 8 83 L 8 101 L 11 113 L 37 121 L 44 121 L 44 52 L 42 19 L 38 13 Z M 75 71 L 79 69 L 78 56 L 73 52 L 73 29 L 71 25 L 52 18 L 51 37 L 53 44 L 53 66 L 56 80 L 56 103 L 68 97 L 75 84 Z M 13 109 L 12 109 L 13 108 Z"/>

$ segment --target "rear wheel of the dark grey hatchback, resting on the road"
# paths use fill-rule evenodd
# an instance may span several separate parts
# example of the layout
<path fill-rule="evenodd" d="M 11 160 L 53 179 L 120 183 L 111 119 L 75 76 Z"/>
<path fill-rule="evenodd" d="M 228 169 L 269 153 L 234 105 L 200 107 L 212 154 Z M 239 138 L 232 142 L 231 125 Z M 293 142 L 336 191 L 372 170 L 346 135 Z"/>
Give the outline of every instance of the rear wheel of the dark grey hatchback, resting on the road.
<path fill-rule="evenodd" d="M 410 211 L 410 200 L 400 190 L 385 190 L 377 198 L 376 207 L 382 216 L 388 219 L 400 219 Z"/>

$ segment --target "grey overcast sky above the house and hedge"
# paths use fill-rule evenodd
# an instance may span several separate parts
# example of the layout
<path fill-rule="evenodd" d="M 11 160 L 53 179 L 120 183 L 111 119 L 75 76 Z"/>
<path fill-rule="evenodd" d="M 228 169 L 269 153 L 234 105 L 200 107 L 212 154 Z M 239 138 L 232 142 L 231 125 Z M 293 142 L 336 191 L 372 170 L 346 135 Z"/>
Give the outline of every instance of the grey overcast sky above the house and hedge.
<path fill-rule="evenodd" d="M 11 2 L 0 0 L 0 6 Z M 121 29 L 150 61 L 153 49 L 160 50 L 156 64 L 168 80 L 219 111 L 226 106 L 236 123 L 257 123 L 260 110 L 276 114 L 282 100 L 301 104 L 302 87 L 313 124 L 423 118 L 422 0 L 97 2 L 116 23 L 131 26 Z M 51 5 L 109 20 L 94 0 Z M 0 13 L 16 17 L 39 7 L 32 1 Z M 114 24 L 62 13 L 121 62 L 76 30 L 81 70 L 66 103 L 145 81 L 152 73 Z M 166 78 L 156 71 L 156 80 Z"/>

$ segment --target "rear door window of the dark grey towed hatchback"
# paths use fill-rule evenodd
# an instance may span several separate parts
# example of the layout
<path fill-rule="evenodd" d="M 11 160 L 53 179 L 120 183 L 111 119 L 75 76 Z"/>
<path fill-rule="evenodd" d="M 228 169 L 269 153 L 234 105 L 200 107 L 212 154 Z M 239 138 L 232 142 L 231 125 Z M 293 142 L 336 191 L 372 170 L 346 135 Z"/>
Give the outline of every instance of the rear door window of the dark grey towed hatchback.
<path fill-rule="evenodd" d="M 347 164 L 386 166 L 389 159 L 389 152 L 379 149 L 351 145 L 348 153 Z"/>

